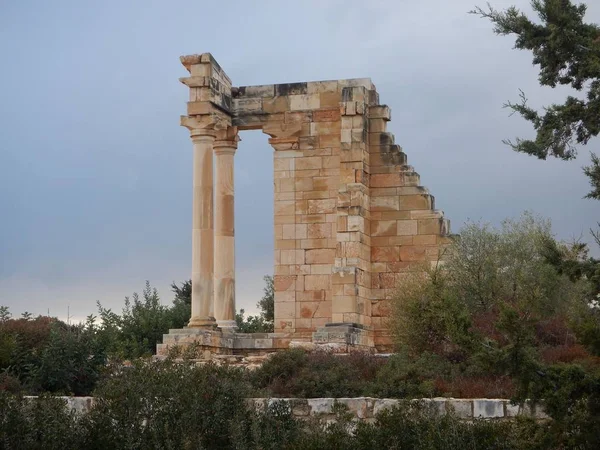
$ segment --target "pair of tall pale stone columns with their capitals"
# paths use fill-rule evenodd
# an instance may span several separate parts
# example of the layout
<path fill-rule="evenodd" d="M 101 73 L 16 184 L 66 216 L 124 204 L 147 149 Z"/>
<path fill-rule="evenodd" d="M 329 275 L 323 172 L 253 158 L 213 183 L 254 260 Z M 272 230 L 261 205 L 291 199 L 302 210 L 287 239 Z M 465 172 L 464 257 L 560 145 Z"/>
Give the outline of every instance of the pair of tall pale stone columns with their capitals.
<path fill-rule="evenodd" d="M 194 145 L 194 195 L 192 318 L 188 326 L 232 329 L 235 327 L 233 157 L 239 137 L 235 127 L 190 131 Z"/>

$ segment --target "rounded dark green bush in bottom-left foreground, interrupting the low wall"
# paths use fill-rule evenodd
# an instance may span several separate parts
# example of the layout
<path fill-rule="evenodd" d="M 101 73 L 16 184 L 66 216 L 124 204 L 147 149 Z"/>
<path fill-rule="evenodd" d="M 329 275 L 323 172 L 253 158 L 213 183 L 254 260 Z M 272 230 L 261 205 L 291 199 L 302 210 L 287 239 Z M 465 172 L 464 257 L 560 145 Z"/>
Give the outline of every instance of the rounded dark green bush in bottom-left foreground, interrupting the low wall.
<path fill-rule="evenodd" d="M 95 395 L 85 448 L 234 448 L 247 436 L 239 370 L 137 360 Z"/>

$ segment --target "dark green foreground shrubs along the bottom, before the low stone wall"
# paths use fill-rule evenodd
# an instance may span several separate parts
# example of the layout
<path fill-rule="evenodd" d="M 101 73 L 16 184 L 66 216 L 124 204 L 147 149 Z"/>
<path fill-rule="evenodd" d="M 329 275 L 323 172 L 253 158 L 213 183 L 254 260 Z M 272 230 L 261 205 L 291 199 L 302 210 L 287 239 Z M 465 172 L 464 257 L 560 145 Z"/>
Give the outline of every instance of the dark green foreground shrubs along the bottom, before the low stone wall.
<path fill-rule="evenodd" d="M 255 408 L 238 369 L 138 360 L 106 378 L 92 410 L 62 400 L 0 393 L 0 445 L 6 449 L 541 449 L 558 448 L 547 423 L 460 421 L 423 403 L 404 403 L 374 423 L 356 423 L 340 405 L 329 417 L 299 420 L 288 405 Z M 550 445 L 548 445 L 550 444 Z M 582 446 L 580 448 L 591 448 Z"/>

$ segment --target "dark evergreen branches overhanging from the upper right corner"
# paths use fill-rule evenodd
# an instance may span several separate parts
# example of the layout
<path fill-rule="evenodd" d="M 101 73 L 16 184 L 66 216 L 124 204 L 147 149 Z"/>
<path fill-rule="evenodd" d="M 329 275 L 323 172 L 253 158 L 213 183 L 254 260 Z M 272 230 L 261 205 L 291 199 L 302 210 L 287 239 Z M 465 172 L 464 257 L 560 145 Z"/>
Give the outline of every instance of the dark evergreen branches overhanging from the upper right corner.
<path fill-rule="evenodd" d="M 540 159 L 570 160 L 576 156 L 576 145 L 585 145 L 600 133 L 600 27 L 584 22 L 585 4 L 532 0 L 531 6 L 537 21 L 514 6 L 498 11 L 488 4 L 471 13 L 489 19 L 496 34 L 516 36 L 516 49 L 532 52 L 541 86 L 570 86 L 581 93 L 544 107 L 543 113 L 527 104 L 522 91 L 518 103 L 505 105 L 531 122 L 536 131 L 535 139 L 504 141 L 513 150 Z M 593 153 L 584 173 L 592 186 L 586 197 L 600 200 L 600 160 Z"/>

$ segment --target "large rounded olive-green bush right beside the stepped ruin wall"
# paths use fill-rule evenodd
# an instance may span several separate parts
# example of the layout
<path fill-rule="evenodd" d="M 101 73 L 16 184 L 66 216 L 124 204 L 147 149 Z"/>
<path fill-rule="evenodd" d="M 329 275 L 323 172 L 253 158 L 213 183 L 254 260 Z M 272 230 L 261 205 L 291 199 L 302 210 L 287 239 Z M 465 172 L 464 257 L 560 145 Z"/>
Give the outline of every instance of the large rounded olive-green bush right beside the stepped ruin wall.
<path fill-rule="evenodd" d="M 550 225 L 529 214 L 500 230 L 467 225 L 443 265 L 398 287 L 399 348 L 439 355 L 452 377 L 510 376 L 526 389 L 549 350 L 576 348 L 569 325 L 575 311 L 590 311 L 592 283 L 550 264 L 549 242 L 558 245 Z"/>

